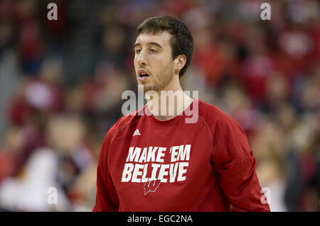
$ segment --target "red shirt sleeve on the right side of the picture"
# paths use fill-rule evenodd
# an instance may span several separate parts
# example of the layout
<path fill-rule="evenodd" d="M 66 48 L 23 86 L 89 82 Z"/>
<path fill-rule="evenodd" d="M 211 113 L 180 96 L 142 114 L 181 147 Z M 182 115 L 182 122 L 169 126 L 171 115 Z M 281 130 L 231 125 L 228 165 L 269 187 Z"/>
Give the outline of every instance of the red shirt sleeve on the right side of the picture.
<path fill-rule="evenodd" d="M 220 119 L 213 133 L 213 164 L 218 181 L 235 211 L 267 211 L 257 179 L 257 161 L 247 142 L 245 131 L 233 119 Z"/>

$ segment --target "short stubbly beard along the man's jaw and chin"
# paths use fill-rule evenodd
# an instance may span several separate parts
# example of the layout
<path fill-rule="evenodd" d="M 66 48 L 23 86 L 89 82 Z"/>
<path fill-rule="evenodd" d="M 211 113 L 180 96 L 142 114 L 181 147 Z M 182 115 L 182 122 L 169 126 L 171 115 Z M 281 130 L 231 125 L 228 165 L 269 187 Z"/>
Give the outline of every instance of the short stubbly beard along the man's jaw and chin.
<path fill-rule="evenodd" d="M 164 88 L 171 82 L 171 80 L 174 78 L 174 64 L 172 62 L 169 62 L 166 64 L 164 69 L 162 69 L 158 74 L 155 76 L 152 76 L 150 79 L 152 79 L 150 84 L 146 82 L 144 85 L 144 93 L 147 91 L 161 91 L 164 90 Z"/>

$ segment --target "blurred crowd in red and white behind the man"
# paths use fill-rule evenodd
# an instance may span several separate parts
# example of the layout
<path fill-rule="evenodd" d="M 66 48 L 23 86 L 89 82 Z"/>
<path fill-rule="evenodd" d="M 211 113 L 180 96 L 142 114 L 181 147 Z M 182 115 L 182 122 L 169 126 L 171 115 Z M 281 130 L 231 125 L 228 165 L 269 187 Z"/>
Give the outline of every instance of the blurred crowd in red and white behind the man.
<path fill-rule="evenodd" d="M 320 3 L 267 1 L 262 21 L 262 2 L 1 0 L 0 210 L 92 209 L 102 140 L 137 91 L 135 28 L 169 15 L 193 34 L 183 89 L 245 129 L 271 210 L 319 211 Z"/>

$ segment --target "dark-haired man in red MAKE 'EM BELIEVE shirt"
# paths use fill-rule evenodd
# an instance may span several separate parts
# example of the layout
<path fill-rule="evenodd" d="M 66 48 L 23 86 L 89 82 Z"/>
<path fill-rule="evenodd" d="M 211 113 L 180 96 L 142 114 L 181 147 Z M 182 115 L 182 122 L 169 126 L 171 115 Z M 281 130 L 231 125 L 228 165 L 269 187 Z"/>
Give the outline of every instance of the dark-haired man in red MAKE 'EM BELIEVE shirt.
<path fill-rule="evenodd" d="M 193 53 L 188 28 L 169 16 L 148 18 L 134 52 L 147 104 L 107 132 L 93 211 L 270 211 L 240 125 L 181 89 Z M 181 98 L 165 102 L 173 93 Z M 190 112 L 196 120 L 187 123 Z"/>

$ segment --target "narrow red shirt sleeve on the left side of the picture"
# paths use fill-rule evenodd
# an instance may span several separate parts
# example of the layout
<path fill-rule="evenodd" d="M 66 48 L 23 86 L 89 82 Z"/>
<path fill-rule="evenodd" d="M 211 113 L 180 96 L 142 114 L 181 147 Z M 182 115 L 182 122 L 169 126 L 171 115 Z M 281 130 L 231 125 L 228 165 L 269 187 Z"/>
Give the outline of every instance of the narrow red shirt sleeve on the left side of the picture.
<path fill-rule="evenodd" d="M 111 139 L 110 133 L 111 131 L 107 133 L 100 150 L 97 164 L 97 193 L 95 206 L 92 208 L 93 212 L 111 212 L 118 211 L 119 209 L 119 198 L 107 168 L 107 151 L 110 147 Z"/>

